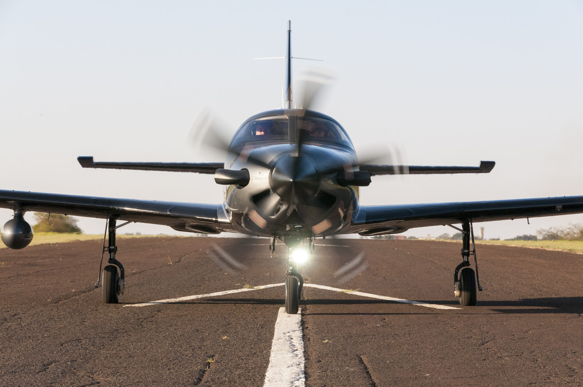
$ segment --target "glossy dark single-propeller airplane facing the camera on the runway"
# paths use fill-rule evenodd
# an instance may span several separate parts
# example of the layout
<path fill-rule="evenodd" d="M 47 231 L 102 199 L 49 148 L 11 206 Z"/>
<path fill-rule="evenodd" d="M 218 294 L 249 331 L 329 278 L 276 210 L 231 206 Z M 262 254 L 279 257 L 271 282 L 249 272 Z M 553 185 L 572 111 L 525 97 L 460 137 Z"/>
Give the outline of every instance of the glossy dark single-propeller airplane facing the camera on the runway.
<path fill-rule="evenodd" d="M 303 287 L 298 270 L 313 251 L 315 238 L 397 234 L 415 227 L 444 225 L 462 233 L 462 261 L 454 270 L 454 296 L 461 305 L 468 306 L 476 305 L 477 291 L 482 290 L 477 272 L 474 222 L 583 213 L 583 196 L 360 206 L 359 187 L 370 185 L 373 176 L 490 173 L 495 163 L 481 161 L 478 167 L 363 163 L 342 125 L 311 109 L 317 89 L 294 104 L 290 22 L 285 58 L 285 105 L 246 119 L 230 142 L 217 145 L 220 141 L 210 140 L 227 151 L 223 162 L 120 163 L 78 157 L 83 168 L 214 174 L 215 182 L 225 186 L 222 204 L 0 190 L 0 207 L 14 212 L 13 219 L 2 227 L 2 241 L 12 249 L 30 244 L 33 230 L 23 219 L 27 211 L 106 219 L 109 237 L 104 252 L 109 259 L 101 276 L 101 297 L 104 303 L 115 304 L 125 287 L 125 270 L 116 259 L 115 242 L 116 230 L 124 224 L 141 222 L 191 233 L 228 232 L 269 237 L 272 254 L 276 240 L 289 247 L 285 308 L 288 314 L 296 314 Z M 206 129 L 199 139 L 209 143 L 214 133 L 209 125 Z M 118 224 L 120 220 L 125 223 Z M 461 224 L 461 228 L 454 224 Z M 471 255 L 476 270 L 470 268 Z"/>

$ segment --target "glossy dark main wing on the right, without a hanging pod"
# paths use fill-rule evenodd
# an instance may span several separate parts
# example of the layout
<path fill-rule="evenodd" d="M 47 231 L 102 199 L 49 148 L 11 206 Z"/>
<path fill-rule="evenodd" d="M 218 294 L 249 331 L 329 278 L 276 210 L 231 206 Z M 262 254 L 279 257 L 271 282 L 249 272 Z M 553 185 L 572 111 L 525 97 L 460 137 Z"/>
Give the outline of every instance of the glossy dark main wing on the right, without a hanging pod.
<path fill-rule="evenodd" d="M 397 234 L 415 227 L 583 213 L 583 196 L 360 206 L 349 233 Z"/>

